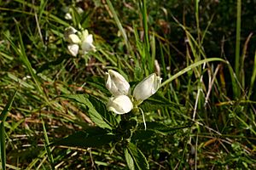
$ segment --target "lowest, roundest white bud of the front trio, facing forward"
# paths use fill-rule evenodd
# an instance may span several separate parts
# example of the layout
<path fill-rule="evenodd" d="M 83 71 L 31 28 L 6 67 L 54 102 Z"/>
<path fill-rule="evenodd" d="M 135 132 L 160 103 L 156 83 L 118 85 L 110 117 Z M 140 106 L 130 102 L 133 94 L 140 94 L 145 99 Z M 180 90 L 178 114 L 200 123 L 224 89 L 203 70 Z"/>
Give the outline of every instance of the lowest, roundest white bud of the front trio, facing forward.
<path fill-rule="evenodd" d="M 109 99 L 107 107 L 108 111 L 113 111 L 116 114 L 125 114 L 132 110 L 133 105 L 128 96 L 118 95 Z"/>

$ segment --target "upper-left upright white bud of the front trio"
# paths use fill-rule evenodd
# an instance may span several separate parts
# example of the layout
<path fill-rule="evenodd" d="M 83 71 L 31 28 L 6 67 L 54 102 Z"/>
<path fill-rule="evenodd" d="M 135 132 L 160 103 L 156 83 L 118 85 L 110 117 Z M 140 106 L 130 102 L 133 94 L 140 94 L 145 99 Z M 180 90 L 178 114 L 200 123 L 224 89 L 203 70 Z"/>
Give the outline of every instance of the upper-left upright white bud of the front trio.
<path fill-rule="evenodd" d="M 106 82 L 106 88 L 108 88 L 109 92 L 116 95 L 127 95 L 130 91 L 130 84 L 125 80 L 125 77 L 120 75 L 117 71 L 109 70 L 108 80 Z"/>

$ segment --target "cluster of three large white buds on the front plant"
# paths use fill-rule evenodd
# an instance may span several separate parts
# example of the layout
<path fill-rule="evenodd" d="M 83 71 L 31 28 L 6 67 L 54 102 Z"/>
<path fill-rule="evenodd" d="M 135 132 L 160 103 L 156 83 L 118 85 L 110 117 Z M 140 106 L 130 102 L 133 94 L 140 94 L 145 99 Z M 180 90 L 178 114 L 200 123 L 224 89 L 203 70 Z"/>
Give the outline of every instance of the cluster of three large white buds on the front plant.
<path fill-rule="evenodd" d="M 109 70 L 107 75 L 106 88 L 113 94 L 108 101 L 108 111 L 116 114 L 128 113 L 137 105 L 142 104 L 143 100 L 156 93 L 161 83 L 161 78 L 153 73 L 139 82 L 131 95 L 130 84 L 125 77 L 113 70 Z"/>

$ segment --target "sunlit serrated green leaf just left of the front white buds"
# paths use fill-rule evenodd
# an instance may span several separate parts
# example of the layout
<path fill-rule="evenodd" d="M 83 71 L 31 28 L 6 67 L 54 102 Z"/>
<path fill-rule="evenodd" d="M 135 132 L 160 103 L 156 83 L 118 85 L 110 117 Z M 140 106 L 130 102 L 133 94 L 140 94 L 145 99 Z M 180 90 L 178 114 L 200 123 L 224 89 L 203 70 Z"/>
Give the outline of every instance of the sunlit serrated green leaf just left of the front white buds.
<path fill-rule="evenodd" d="M 85 108 L 88 110 L 90 119 L 96 123 L 97 126 L 102 128 L 108 128 L 112 129 L 111 126 L 107 122 L 103 120 L 102 115 L 96 111 L 96 108 L 94 105 L 91 104 L 90 100 L 88 99 L 90 96 L 87 94 L 63 94 L 60 97 L 66 98 L 66 99 L 73 99 L 80 104 L 83 104 Z"/>

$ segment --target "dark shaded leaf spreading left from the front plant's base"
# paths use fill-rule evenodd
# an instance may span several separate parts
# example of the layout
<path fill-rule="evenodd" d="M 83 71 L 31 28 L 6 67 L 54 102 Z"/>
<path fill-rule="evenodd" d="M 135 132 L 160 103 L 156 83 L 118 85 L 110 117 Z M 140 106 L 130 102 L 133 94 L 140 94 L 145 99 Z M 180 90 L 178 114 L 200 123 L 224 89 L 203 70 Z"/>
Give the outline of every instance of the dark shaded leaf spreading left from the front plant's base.
<path fill-rule="evenodd" d="M 54 142 L 54 145 L 66 145 L 74 147 L 100 147 L 109 144 L 116 137 L 100 127 L 89 127 L 85 131 L 73 133 L 64 139 Z"/>

